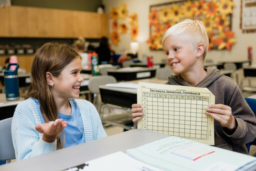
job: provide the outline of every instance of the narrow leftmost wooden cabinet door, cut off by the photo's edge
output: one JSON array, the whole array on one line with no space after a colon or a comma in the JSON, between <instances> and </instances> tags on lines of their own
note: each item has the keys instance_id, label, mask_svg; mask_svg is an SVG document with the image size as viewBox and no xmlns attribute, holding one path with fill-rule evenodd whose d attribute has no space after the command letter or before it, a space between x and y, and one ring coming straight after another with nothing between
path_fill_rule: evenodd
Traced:
<instances>
[{"instance_id":1,"label":"narrow leftmost wooden cabinet door, cut off by the photo's edge","mask_svg":"<svg viewBox=\"0 0 256 171\"><path fill-rule=\"evenodd\" d=\"M9 36L9 6L0 8L0 36Z\"/></svg>"}]
</instances>

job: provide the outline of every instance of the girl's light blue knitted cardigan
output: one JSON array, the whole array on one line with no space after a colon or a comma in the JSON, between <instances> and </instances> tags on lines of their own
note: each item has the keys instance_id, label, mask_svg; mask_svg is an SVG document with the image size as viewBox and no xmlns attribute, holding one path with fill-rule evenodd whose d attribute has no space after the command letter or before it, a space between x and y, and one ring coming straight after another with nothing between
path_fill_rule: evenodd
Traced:
<instances>
[{"instance_id":1,"label":"girl's light blue knitted cardigan","mask_svg":"<svg viewBox=\"0 0 256 171\"><path fill-rule=\"evenodd\" d=\"M105 137L106 133L94 105L84 99L69 100L75 100L78 104L83 122L84 142ZM42 120L36 102L28 98L17 105L11 123L16 160L56 150L56 140L51 143L43 141L42 133L35 130L35 124L42 124Z\"/></svg>"}]
</instances>

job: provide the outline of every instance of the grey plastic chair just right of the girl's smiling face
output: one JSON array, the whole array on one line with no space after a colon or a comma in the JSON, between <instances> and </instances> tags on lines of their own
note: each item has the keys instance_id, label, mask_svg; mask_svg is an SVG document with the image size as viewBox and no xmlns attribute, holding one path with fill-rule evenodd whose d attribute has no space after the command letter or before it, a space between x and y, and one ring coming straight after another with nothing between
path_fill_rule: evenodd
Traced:
<instances>
[{"instance_id":1,"label":"grey plastic chair just right of the girl's smiling face","mask_svg":"<svg viewBox=\"0 0 256 171\"><path fill-rule=\"evenodd\" d=\"M98 94L99 94L98 86L107 84L107 83L115 83L115 82L116 82L115 77L111 75L98 75L98 76L92 76L89 78L88 89L90 93L93 94L92 103L96 106L96 109L98 109Z\"/></svg>"}]
</instances>

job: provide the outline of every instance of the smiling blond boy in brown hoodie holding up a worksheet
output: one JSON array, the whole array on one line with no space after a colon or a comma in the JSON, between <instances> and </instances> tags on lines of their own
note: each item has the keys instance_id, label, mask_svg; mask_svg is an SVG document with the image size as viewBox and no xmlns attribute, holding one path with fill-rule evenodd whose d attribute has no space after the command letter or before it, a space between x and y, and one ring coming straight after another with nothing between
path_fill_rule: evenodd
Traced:
<instances>
[{"instance_id":1,"label":"smiling blond boy in brown hoodie holding up a worksheet","mask_svg":"<svg viewBox=\"0 0 256 171\"><path fill-rule=\"evenodd\" d=\"M215 95L215 104L205 114L214 118L214 146L247 154L244 144L256 136L256 119L237 84L218 69L204 68L208 37L199 20L186 19L171 26L163 35L167 63L175 73L166 84L207 87ZM140 104L132 104L132 121L143 113Z\"/></svg>"}]
</instances>

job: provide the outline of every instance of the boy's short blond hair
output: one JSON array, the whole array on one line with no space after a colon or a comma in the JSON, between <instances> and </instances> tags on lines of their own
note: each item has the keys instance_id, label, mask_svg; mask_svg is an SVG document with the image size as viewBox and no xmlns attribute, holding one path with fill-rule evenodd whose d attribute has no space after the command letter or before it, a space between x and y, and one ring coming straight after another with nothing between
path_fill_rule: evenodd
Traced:
<instances>
[{"instance_id":1,"label":"boy's short blond hair","mask_svg":"<svg viewBox=\"0 0 256 171\"><path fill-rule=\"evenodd\" d=\"M175 25L172 25L167 29L162 37L162 43L169 35L180 35L183 34L187 36L187 39L191 43L192 47L196 48L197 44L203 43L205 46L204 52L202 54L202 59L207 53L209 39L207 32L203 27L203 23L200 20L185 19Z\"/></svg>"}]
</instances>

